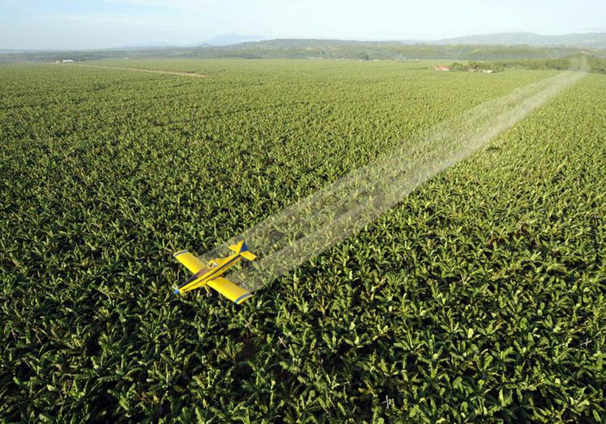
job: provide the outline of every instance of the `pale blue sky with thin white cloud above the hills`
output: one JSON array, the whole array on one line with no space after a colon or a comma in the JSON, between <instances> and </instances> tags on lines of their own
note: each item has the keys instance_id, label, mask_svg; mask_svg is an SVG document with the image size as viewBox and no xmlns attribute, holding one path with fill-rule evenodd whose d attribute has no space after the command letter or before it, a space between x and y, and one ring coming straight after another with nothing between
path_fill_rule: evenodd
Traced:
<instances>
[{"instance_id":1,"label":"pale blue sky with thin white cloud above the hills","mask_svg":"<svg viewBox=\"0 0 606 424\"><path fill-rule=\"evenodd\" d=\"M606 32L604 0L0 0L0 50L262 38L435 40Z\"/></svg>"}]
</instances>

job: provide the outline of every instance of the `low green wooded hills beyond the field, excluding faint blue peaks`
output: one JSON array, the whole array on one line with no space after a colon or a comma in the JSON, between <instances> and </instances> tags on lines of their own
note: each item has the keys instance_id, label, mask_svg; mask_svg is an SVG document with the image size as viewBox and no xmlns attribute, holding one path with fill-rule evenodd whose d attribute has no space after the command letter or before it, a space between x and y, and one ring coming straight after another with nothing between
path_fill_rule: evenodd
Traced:
<instances>
[{"instance_id":1,"label":"low green wooded hills beyond the field, excluding faint blue peaks","mask_svg":"<svg viewBox=\"0 0 606 424\"><path fill-rule=\"evenodd\" d=\"M606 57L604 50L587 50ZM435 45L402 42L339 41L321 39L277 39L246 42L225 47L132 48L57 52L21 52L0 54L0 61L75 61L110 58L247 58L247 59L376 59L415 60L453 59L460 61L512 61L522 59L559 59L579 53L579 48L530 45Z\"/></svg>"}]
</instances>

